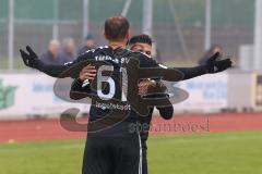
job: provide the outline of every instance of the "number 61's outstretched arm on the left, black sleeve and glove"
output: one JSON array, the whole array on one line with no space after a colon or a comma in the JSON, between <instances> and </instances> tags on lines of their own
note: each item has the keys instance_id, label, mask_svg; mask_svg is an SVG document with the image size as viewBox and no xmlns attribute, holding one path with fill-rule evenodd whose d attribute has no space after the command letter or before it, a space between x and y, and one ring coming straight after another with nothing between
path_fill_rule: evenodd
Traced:
<instances>
[{"instance_id":1,"label":"number 61's outstretched arm on the left, black sleeve and glove","mask_svg":"<svg viewBox=\"0 0 262 174\"><path fill-rule=\"evenodd\" d=\"M73 66L76 62L81 61L84 55L79 57L74 62L64 65L51 65L44 63L38 55L32 50L29 46L26 47L27 52L20 50L23 62L26 66L36 69L49 76L59 77L66 70Z\"/></svg>"}]
</instances>

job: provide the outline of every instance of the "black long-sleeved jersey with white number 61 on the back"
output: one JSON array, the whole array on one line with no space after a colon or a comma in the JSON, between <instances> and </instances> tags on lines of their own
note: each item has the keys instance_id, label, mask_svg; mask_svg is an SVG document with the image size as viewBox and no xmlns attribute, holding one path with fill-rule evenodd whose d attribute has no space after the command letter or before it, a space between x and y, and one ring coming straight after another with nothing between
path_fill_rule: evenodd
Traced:
<instances>
[{"instance_id":1,"label":"black long-sleeved jersey with white number 61 on the back","mask_svg":"<svg viewBox=\"0 0 262 174\"><path fill-rule=\"evenodd\" d=\"M97 79L100 80L100 84L107 84L105 90L96 90L96 96L99 97L99 99L93 101L93 107L91 108L90 114L90 121L97 121L103 119L105 115L108 115L111 110L122 110L121 112L118 113L118 115L127 115L126 120L127 123L130 122L135 122L138 117L135 117L138 114L134 114L134 112L131 111L131 105L129 104L130 101L127 100L127 96L124 96L123 90L128 90L129 94L135 94L135 91L132 91L132 87L130 85L138 85L138 70L143 69L143 67L160 67L160 69L166 69L163 67L162 65L157 64L153 59L148 59L148 57L144 53L141 52L134 52L128 49L123 48L117 48L112 49L111 47L105 46L105 47L99 47L96 49L92 49L86 51L85 53L81 54L75 61L73 62L68 62L64 65L47 65L44 64L43 62L38 62L37 69L50 76L53 77L66 77L70 76L70 74L64 74L70 69L74 69L78 64L82 64L82 62L87 61L87 60L93 60L93 61L104 61L108 64L109 66L104 66L104 71L110 71L110 75L106 75L106 77L103 77L103 73L99 73L99 77ZM126 78L123 77L124 75L124 70L132 66L133 60L136 60L139 62L139 67L133 69L132 71L126 72L126 78L129 80L133 80L132 83L127 83L124 80ZM134 65L135 66L135 65ZM84 66L83 66L84 67ZM78 70L79 72L82 69ZM172 69L174 70L174 69ZM202 74L205 74L205 69L204 66L196 66L196 67L179 67L176 69L178 72L181 72L181 79L188 79L192 78ZM78 77L79 72L75 73ZM103 71L102 71L103 72ZM148 72L148 71L147 71ZM148 73L150 74L150 73ZM103 82L104 80L104 82ZM127 89L128 88L128 89ZM134 88L134 86L133 86ZM108 102L108 100L115 99L118 100L117 104L111 104ZM133 98L134 100L136 99L135 96ZM106 101L106 102L104 102ZM120 101L120 102L119 102ZM143 103L138 103L136 104L143 104ZM141 107L140 105L140 107ZM142 105L143 108L144 105Z\"/></svg>"}]
</instances>

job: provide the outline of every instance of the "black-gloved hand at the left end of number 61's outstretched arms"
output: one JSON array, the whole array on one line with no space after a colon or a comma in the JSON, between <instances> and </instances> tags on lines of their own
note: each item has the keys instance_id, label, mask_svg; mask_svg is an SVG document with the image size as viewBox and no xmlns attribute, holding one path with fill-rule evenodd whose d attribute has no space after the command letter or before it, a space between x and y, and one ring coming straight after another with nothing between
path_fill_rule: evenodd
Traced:
<instances>
[{"instance_id":1,"label":"black-gloved hand at the left end of number 61's outstretched arms","mask_svg":"<svg viewBox=\"0 0 262 174\"><path fill-rule=\"evenodd\" d=\"M39 59L29 46L26 46L26 51L20 49L21 57L26 66L37 69Z\"/></svg>"}]
</instances>

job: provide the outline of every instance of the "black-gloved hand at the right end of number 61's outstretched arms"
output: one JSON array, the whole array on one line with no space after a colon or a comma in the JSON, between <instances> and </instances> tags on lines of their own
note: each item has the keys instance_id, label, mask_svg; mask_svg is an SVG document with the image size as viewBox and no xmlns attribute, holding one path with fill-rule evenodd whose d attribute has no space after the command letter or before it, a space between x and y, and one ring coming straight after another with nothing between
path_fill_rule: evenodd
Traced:
<instances>
[{"instance_id":1,"label":"black-gloved hand at the right end of number 61's outstretched arms","mask_svg":"<svg viewBox=\"0 0 262 174\"><path fill-rule=\"evenodd\" d=\"M231 67L231 60L230 59L217 60L219 55L221 55L219 52L216 52L206 61L205 66L207 73L219 73Z\"/></svg>"}]
</instances>

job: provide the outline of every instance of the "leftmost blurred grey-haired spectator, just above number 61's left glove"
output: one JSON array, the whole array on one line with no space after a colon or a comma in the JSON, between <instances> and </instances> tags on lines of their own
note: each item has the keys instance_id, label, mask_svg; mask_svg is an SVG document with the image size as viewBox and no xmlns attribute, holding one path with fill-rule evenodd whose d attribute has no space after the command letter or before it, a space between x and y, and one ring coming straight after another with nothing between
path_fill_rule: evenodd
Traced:
<instances>
[{"instance_id":1,"label":"leftmost blurred grey-haired spectator, just above number 61's left glove","mask_svg":"<svg viewBox=\"0 0 262 174\"><path fill-rule=\"evenodd\" d=\"M60 50L60 42L58 40L51 40L49 42L48 51L40 55L43 62L47 64L62 64L61 59L58 58L58 52Z\"/></svg>"}]
</instances>

